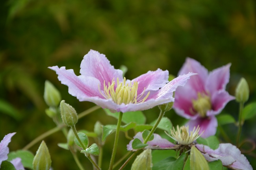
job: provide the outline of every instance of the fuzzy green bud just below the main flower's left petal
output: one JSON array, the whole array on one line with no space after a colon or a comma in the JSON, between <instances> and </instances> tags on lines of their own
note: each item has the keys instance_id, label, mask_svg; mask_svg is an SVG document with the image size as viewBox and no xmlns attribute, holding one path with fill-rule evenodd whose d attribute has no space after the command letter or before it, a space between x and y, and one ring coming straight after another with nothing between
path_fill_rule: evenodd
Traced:
<instances>
[{"instance_id":1,"label":"fuzzy green bud just below the main flower's left petal","mask_svg":"<svg viewBox=\"0 0 256 170\"><path fill-rule=\"evenodd\" d=\"M63 123L67 126L74 126L77 123L78 115L76 110L69 104L65 103L65 101L60 102L60 113Z\"/></svg>"}]
</instances>

